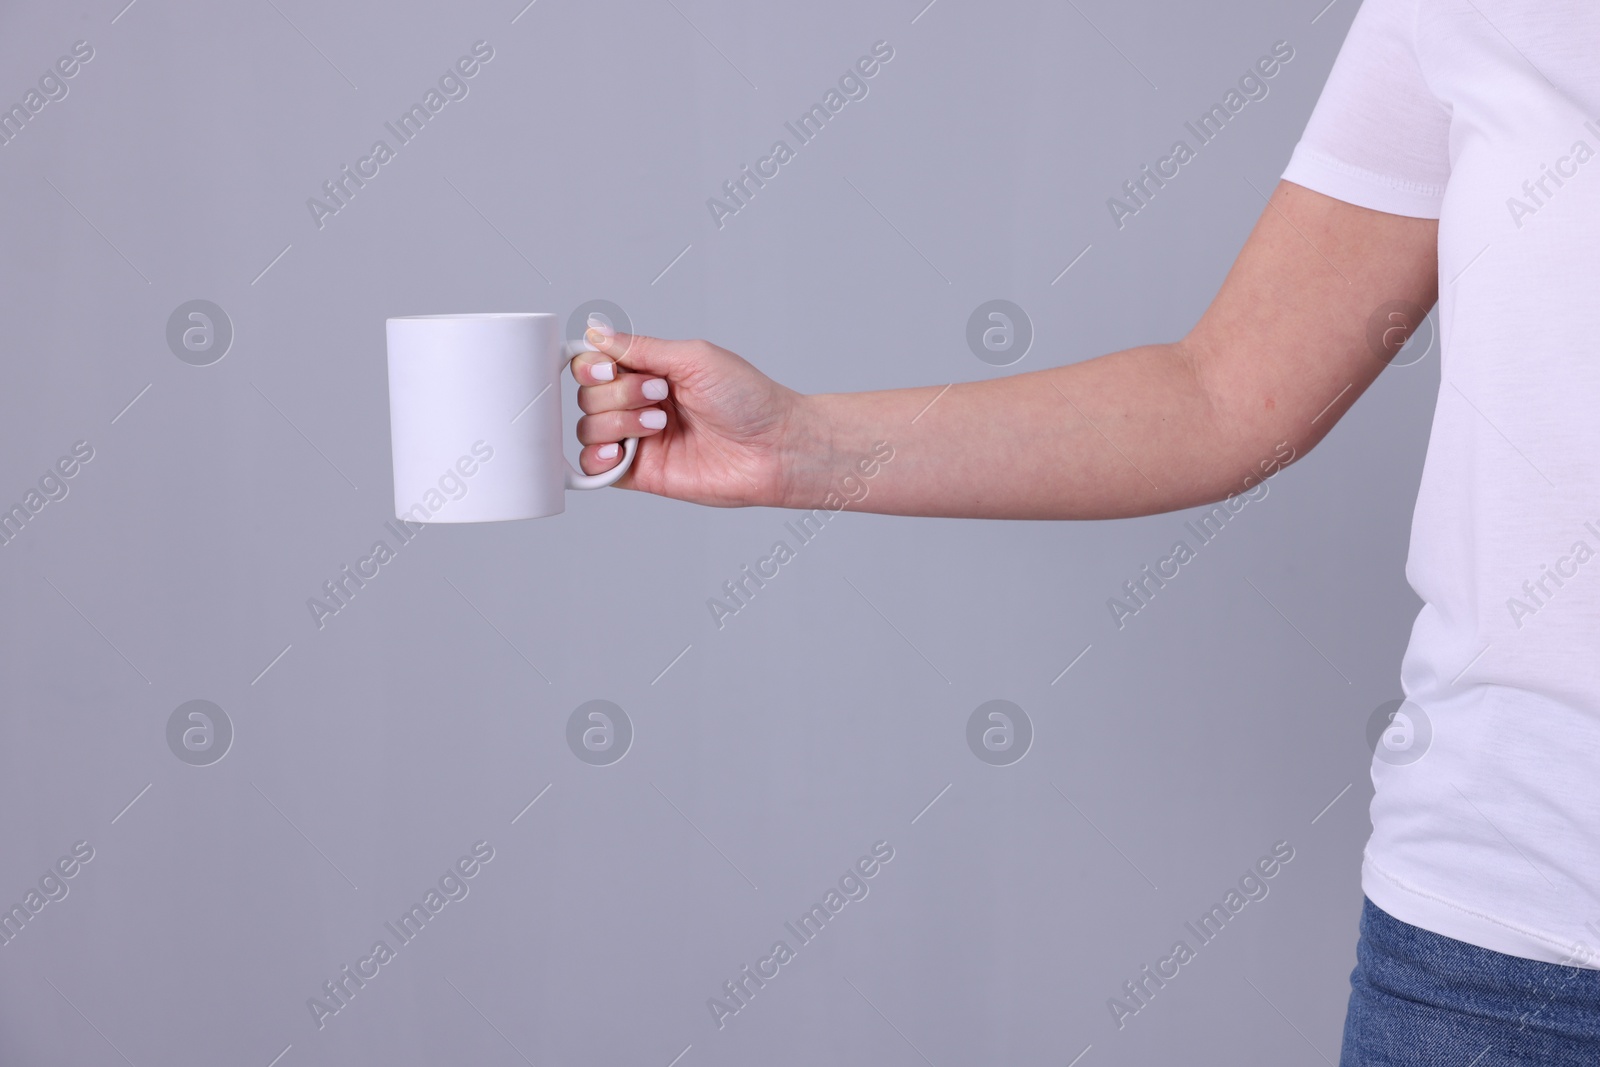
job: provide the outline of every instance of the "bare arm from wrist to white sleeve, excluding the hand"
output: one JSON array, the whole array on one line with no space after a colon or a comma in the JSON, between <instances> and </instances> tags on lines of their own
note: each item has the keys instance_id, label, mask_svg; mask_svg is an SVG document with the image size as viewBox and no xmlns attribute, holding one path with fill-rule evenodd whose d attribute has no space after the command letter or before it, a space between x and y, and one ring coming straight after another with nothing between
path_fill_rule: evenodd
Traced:
<instances>
[{"instance_id":1,"label":"bare arm from wrist to white sleeve, excluding the hand","mask_svg":"<svg viewBox=\"0 0 1600 1067\"><path fill-rule=\"evenodd\" d=\"M1278 182L1182 341L942 395L805 397L778 499L824 507L832 488L837 506L877 442L893 459L851 509L1117 518L1250 491L1309 453L1405 344L1437 296L1437 243L1435 219Z\"/></svg>"}]
</instances>

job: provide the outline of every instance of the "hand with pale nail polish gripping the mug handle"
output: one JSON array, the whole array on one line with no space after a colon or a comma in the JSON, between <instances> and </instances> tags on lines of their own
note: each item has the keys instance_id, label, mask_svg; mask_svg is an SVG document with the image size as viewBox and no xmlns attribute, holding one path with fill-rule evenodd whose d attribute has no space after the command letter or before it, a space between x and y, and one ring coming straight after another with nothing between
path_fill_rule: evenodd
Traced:
<instances>
[{"instance_id":1,"label":"hand with pale nail polish gripping the mug handle","mask_svg":"<svg viewBox=\"0 0 1600 1067\"><path fill-rule=\"evenodd\" d=\"M794 494L794 458L814 438L805 397L707 341L597 328L584 339L598 349L571 363L584 474L614 467L618 442L637 437L622 488L718 507L781 506Z\"/></svg>"}]
</instances>

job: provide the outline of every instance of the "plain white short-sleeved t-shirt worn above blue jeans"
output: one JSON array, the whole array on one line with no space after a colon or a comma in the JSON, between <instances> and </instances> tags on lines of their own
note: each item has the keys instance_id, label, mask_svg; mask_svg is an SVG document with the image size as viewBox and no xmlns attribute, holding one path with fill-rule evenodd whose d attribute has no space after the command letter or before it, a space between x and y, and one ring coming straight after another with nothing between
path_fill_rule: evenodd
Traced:
<instances>
[{"instance_id":1,"label":"plain white short-sleeved t-shirt worn above blue jeans","mask_svg":"<svg viewBox=\"0 0 1600 1067\"><path fill-rule=\"evenodd\" d=\"M1366 0L1283 178L1440 221L1424 605L1362 888L1600 966L1600 3Z\"/></svg>"}]
</instances>

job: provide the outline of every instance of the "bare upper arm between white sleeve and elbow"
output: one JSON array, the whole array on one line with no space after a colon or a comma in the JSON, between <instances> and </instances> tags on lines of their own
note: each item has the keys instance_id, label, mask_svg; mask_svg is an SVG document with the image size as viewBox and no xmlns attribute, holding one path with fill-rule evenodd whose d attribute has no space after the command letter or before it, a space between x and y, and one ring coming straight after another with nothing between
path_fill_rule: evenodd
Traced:
<instances>
[{"instance_id":1,"label":"bare upper arm between white sleeve and elbow","mask_svg":"<svg viewBox=\"0 0 1600 1067\"><path fill-rule=\"evenodd\" d=\"M1253 464L1304 454L1438 296L1438 221L1278 182L1200 322L1179 341L1218 440ZM1266 451L1262 451L1266 450Z\"/></svg>"}]
</instances>

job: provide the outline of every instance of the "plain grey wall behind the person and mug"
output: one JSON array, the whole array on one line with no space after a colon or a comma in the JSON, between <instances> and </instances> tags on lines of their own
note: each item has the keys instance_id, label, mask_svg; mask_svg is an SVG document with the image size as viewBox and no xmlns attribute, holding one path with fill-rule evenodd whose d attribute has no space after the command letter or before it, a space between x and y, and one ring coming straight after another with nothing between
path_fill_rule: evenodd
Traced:
<instances>
[{"instance_id":1,"label":"plain grey wall behind the person and mug","mask_svg":"<svg viewBox=\"0 0 1600 1067\"><path fill-rule=\"evenodd\" d=\"M94 448L0 547L0 897L94 848L0 947L0 1059L1338 1057L1437 354L1120 632L1106 600L1186 515L843 514L718 632L790 515L608 491L432 526L310 621L392 514L386 315L603 298L808 392L1173 339L1355 11L923 2L0 13L6 104L96 51L0 147L0 498ZM306 198L480 38L470 94L318 230ZM877 40L870 94L718 230L706 198ZM1106 198L1275 40L1267 99L1118 232ZM1035 330L1011 368L965 342L995 298ZM211 366L165 342L190 299L234 323ZM234 723L211 766L166 747L190 699ZM634 723L610 766L565 742L590 699ZM990 699L1034 723L1011 766L966 747ZM477 840L470 896L318 1030L307 998ZM878 840L870 896L718 1030L706 1000ZM1107 998L1278 840L1270 896L1118 1030Z\"/></svg>"}]
</instances>

